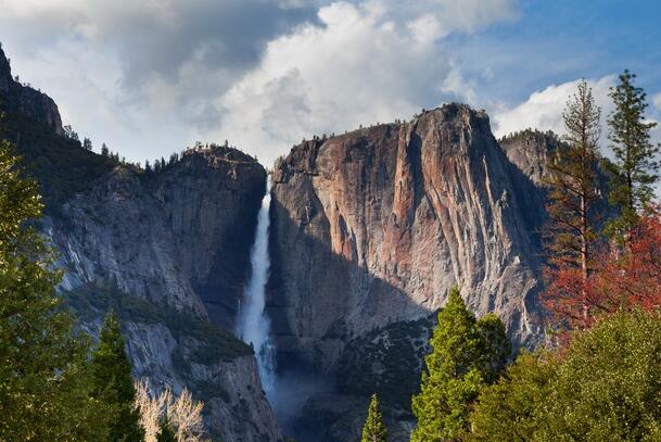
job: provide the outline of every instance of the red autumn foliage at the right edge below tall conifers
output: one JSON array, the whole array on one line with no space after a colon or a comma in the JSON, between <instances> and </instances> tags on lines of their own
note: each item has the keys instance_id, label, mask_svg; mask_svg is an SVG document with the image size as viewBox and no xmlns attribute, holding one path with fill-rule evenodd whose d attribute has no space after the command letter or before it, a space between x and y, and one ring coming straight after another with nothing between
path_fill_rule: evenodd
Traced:
<instances>
[{"instance_id":1,"label":"red autumn foliage at the right edge below tall conifers","mask_svg":"<svg viewBox=\"0 0 661 442\"><path fill-rule=\"evenodd\" d=\"M581 269L558 265L545 269L543 296L556 325L586 328L601 314L661 306L661 218L644 216L623 249L595 255L585 283Z\"/></svg>"}]
</instances>

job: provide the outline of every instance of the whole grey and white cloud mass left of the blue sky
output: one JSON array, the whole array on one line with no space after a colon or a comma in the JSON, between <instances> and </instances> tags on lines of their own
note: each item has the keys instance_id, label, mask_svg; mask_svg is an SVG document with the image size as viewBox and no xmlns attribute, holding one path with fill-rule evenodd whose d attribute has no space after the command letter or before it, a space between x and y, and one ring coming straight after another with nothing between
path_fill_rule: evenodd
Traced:
<instances>
[{"instance_id":1,"label":"whole grey and white cloud mass left of the blue sky","mask_svg":"<svg viewBox=\"0 0 661 442\"><path fill-rule=\"evenodd\" d=\"M475 104L444 48L516 0L0 0L15 74L65 122L135 160L194 140L269 164L302 137ZM14 49L15 48L15 49Z\"/></svg>"}]
</instances>

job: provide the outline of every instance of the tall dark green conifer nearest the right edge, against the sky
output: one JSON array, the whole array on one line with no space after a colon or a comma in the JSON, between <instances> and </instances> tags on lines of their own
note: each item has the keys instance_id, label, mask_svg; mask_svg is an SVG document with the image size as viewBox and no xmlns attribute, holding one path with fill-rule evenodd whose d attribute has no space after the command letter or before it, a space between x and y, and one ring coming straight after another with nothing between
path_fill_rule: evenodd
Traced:
<instances>
[{"instance_id":1,"label":"tall dark green conifer nearest the right edge, against the sky","mask_svg":"<svg viewBox=\"0 0 661 442\"><path fill-rule=\"evenodd\" d=\"M618 205L620 215L609 223L607 231L620 242L627 241L638 223L639 211L653 197L653 185L659 175L659 146L650 142L650 130L656 123L645 121L646 94L634 86L636 75L624 71L620 84L609 93L615 110L609 116L609 139L614 161L609 200Z\"/></svg>"}]
</instances>

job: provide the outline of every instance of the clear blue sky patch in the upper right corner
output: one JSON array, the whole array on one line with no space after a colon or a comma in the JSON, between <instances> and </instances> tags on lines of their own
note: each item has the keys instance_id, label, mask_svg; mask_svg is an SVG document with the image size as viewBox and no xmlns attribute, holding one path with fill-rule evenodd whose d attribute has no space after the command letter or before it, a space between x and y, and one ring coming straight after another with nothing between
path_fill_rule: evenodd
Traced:
<instances>
[{"instance_id":1,"label":"clear blue sky patch in the upper right corner","mask_svg":"<svg viewBox=\"0 0 661 442\"><path fill-rule=\"evenodd\" d=\"M507 52L521 52L498 75L503 99L523 100L551 83L599 78L624 68L637 73L641 85L659 90L661 2L524 1L520 8L516 22L494 25L478 38L456 36L457 43L468 48L486 41L495 51L494 64L507 60Z\"/></svg>"}]
</instances>

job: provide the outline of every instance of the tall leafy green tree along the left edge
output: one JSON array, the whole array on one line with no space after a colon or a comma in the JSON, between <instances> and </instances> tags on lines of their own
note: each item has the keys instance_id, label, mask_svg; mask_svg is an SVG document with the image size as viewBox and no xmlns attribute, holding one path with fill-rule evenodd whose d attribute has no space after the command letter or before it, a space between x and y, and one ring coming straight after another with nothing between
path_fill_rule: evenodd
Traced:
<instances>
[{"instance_id":1,"label":"tall leafy green tree along the left edge","mask_svg":"<svg viewBox=\"0 0 661 442\"><path fill-rule=\"evenodd\" d=\"M0 440L103 438L84 370L87 341L55 294L52 251L28 227L41 215L37 185L0 142Z\"/></svg>"}]
</instances>

